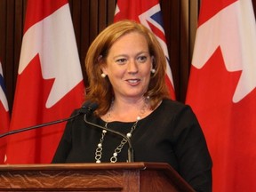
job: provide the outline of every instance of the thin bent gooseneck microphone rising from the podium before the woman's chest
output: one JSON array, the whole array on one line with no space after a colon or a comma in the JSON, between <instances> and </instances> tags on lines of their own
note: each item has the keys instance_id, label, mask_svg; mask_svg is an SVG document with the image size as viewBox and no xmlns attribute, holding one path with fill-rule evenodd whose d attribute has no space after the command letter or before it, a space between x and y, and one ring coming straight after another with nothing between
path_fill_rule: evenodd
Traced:
<instances>
[{"instance_id":1,"label":"thin bent gooseneck microphone rising from the podium before the woman's chest","mask_svg":"<svg viewBox=\"0 0 256 192\"><path fill-rule=\"evenodd\" d=\"M90 109L89 109L90 108ZM90 110L91 112L93 112L96 108L98 108L98 104L97 103L92 103L89 107L88 107L88 110ZM127 143L129 145L128 147L128 163L132 163L134 162L134 156L133 156L133 148L132 148L132 141L126 136L124 135L122 132L116 132L115 130L111 130L111 129L108 129L106 127L103 127L103 126L100 126L99 124L93 124L92 122L89 122L87 120L87 115L89 113L85 113L84 114L84 122L86 124L91 124L92 126L94 127L97 127L97 128L100 128L101 130L106 130L107 132L111 132L113 134L116 134L122 138L124 138L125 140L127 140Z\"/></svg>"}]
</instances>

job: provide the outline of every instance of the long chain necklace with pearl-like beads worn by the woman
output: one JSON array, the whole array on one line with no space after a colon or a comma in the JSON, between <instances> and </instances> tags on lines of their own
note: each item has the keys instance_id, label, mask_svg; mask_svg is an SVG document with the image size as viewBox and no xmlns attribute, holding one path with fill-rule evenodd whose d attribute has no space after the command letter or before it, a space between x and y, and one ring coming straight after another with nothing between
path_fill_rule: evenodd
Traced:
<instances>
[{"instance_id":1,"label":"long chain necklace with pearl-like beads worn by the woman","mask_svg":"<svg viewBox=\"0 0 256 192\"><path fill-rule=\"evenodd\" d=\"M109 109L108 116L107 116L108 118L111 116L112 106L113 106L113 103L111 105L111 108ZM144 113L146 112L147 106L148 106L148 98L147 98L147 100L145 99L145 103L144 103L143 107L140 110L140 115L137 116L136 122L134 124L132 124L132 128L131 128L130 132L128 132L126 134L127 138L129 138L129 139L132 138L132 132L136 129L137 124L141 119L141 116L143 116ZM105 124L105 128L108 129L108 119L107 119L107 122ZM97 146L96 151L95 151L95 160L96 160L97 164L101 163L100 159L101 159L101 156L102 156L103 141L104 141L104 137L105 137L106 133L107 133L107 130L102 130L100 142L98 143L98 146ZM111 158L110 158L111 163L116 163L117 156L122 151L122 149L123 149L123 147L126 143L127 143L126 139L121 140L120 144L114 150L113 156L111 156Z\"/></svg>"}]
</instances>

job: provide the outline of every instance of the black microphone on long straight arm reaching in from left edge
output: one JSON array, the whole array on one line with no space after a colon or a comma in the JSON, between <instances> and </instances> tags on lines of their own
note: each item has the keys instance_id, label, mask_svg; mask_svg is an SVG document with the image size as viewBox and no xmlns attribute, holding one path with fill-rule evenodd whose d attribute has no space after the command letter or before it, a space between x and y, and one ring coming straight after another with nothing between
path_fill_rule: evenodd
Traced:
<instances>
[{"instance_id":1,"label":"black microphone on long straight arm reaching in from left edge","mask_svg":"<svg viewBox=\"0 0 256 192\"><path fill-rule=\"evenodd\" d=\"M33 129L41 128L41 127L44 127L44 126L49 126L49 125L52 125L52 124L60 124L60 123L69 121L71 119L74 119L74 118L76 118L76 116L79 116L81 114L85 114L86 115L86 114L92 113L92 107L93 106L91 106L91 105L92 105L92 103L87 101L87 102L84 103L82 108L80 108L78 110L78 113L75 116L70 116L68 118L64 118L64 119L60 119L60 120L57 120L57 121L48 122L48 123L45 123L45 124L37 124L37 125L34 125L34 126L22 128L22 129L19 129L19 130L13 130L11 132L5 132L3 134L0 134L0 138L3 138L5 136L7 136L7 135L15 134L15 133L18 133L18 132L27 132L27 131L30 131L30 130L33 130ZM95 107L93 107L93 108L95 108ZM93 110L95 110L95 109L93 109Z\"/></svg>"}]
</instances>

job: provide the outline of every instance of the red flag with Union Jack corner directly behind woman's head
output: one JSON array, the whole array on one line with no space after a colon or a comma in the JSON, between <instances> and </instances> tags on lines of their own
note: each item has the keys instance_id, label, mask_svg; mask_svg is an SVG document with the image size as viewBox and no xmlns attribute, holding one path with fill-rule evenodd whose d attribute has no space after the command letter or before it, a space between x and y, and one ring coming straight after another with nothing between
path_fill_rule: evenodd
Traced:
<instances>
[{"instance_id":1,"label":"red flag with Union Jack corner directly behind woman's head","mask_svg":"<svg viewBox=\"0 0 256 192\"><path fill-rule=\"evenodd\" d=\"M166 84L172 100L175 100L174 84L168 49L164 35L164 24L159 0L117 0L114 22L118 20L136 20L149 28L161 44L166 58Z\"/></svg>"}]
</instances>

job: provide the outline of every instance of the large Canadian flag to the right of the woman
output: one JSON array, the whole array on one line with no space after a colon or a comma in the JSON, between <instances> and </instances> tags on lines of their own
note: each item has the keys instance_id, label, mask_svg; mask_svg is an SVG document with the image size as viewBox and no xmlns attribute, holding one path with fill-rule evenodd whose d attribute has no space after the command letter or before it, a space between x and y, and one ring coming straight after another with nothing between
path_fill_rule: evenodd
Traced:
<instances>
[{"instance_id":1,"label":"large Canadian flag to the right of the woman","mask_svg":"<svg viewBox=\"0 0 256 192\"><path fill-rule=\"evenodd\" d=\"M213 191L256 188L256 26L251 0L203 0L187 103L213 162Z\"/></svg>"}]
</instances>

